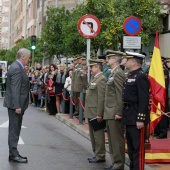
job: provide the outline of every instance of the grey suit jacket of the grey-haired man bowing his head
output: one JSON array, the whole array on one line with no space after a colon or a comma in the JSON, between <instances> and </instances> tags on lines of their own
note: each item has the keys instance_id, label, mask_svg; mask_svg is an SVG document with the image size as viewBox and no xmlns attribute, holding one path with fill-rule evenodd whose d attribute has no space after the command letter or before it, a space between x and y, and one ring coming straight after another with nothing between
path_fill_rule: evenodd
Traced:
<instances>
[{"instance_id":1,"label":"grey suit jacket of the grey-haired man bowing his head","mask_svg":"<svg viewBox=\"0 0 170 170\"><path fill-rule=\"evenodd\" d=\"M29 103L29 78L22 66L15 61L7 73L7 89L4 107L21 108L25 111Z\"/></svg>"}]
</instances>

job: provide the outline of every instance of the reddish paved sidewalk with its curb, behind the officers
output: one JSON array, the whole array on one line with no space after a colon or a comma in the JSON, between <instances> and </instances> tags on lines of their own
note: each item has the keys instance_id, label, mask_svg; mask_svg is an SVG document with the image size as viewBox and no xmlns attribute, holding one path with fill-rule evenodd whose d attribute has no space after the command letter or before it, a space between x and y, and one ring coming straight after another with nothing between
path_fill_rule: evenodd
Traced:
<instances>
[{"instance_id":1,"label":"reddish paved sidewalk with its curb, behind the officers","mask_svg":"<svg viewBox=\"0 0 170 170\"><path fill-rule=\"evenodd\" d=\"M68 114L56 114L56 119L60 120L70 128L74 129L77 131L79 134L84 136L85 138L90 140L89 136L89 131L88 131L88 124L83 124L80 125L78 119L73 118L70 119ZM106 150L107 152L109 151L108 144L107 144L107 139L106 139ZM129 158L128 155L125 155L126 158L126 164L129 165ZM145 170L170 170L170 164L146 164L145 165Z\"/></svg>"}]
</instances>

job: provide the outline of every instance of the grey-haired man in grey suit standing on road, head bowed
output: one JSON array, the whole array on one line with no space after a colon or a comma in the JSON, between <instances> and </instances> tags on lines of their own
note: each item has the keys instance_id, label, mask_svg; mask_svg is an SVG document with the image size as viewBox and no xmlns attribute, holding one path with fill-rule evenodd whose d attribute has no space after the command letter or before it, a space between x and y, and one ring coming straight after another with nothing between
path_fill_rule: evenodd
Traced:
<instances>
[{"instance_id":1,"label":"grey-haired man in grey suit standing on road, head bowed","mask_svg":"<svg viewBox=\"0 0 170 170\"><path fill-rule=\"evenodd\" d=\"M27 157L22 157L18 150L18 140L21 131L22 118L29 103L29 78L24 70L30 60L30 51L22 48L17 52L16 61L11 64L7 73L7 89L4 107L8 108L9 116L9 161L27 163Z\"/></svg>"}]
</instances>

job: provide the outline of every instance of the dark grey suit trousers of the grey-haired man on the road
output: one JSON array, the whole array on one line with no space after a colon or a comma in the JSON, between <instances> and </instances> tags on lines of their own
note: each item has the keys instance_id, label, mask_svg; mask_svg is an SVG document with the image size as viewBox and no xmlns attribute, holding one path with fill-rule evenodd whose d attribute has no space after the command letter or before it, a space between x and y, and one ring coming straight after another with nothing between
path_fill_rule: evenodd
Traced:
<instances>
[{"instance_id":1,"label":"dark grey suit trousers of the grey-haired man on the road","mask_svg":"<svg viewBox=\"0 0 170 170\"><path fill-rule=\"evenodd\" d=\"M23 114L15 113L14 109L8 109L9 116L9 129L8 129L8 146L9 154L13 156L19 156L17 145L19 141L19 135L21 132Z\"/></svg>"}]
</instances>

